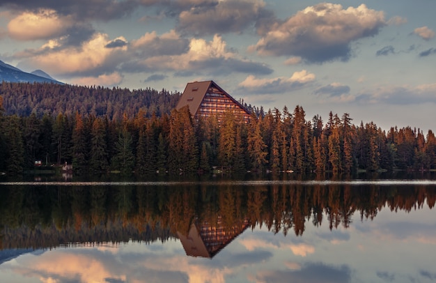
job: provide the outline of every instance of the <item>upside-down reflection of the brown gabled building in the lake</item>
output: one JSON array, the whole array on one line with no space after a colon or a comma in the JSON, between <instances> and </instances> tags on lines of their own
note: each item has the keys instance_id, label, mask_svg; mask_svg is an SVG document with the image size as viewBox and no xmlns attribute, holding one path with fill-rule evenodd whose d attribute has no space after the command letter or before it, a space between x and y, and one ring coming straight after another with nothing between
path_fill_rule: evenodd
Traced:
<instances>
[{"instance_id":1,"label":"upside-down reflection of the brown gabled building in the lake","mask_svg":"<svg viewBox=\"0 0 436 283\"><path fill-rule=\"evenodd\" d=\"M188 256L212 258L248 227L248 220L233 224L231 227L224 227L220 217L216 225L194 222L187 236L179 231L177 235Z\"/></svg>"}]
</instances>

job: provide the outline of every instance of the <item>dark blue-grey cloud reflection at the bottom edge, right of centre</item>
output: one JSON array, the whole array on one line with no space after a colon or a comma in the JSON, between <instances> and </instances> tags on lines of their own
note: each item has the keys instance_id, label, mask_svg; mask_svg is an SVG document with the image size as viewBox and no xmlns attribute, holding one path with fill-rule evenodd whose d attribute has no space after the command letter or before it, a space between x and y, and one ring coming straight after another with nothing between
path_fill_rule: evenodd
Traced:
<instances>
[{"instance_id":1,"label":"dark blue-grey cloud reflection at the bottom edge, right of centre","mask_svg":"<svg viewBox=\"0 0 436 283\"><path fill-rule=\"evenodd\" d=\"M256 275L256 282L350 282L348 266L326 266L323 263L306 263L300 270L264 270Z\"/></svg>"}]
</instances>

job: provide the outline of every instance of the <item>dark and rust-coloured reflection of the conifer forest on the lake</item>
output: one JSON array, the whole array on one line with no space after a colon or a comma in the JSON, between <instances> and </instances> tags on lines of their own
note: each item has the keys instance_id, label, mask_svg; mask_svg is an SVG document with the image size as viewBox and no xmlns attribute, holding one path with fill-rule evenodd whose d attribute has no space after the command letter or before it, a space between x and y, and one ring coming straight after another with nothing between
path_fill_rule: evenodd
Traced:
<instances>
[{"instance_id":1,"label":"dark and rust-coloured reflection of the conifer forest on the lake","mask_svg":"<svg viewBox=\"0 0 436 283\"><path fill-rule=\"evenodd\" d=\"M355 213L373 219L382 208L411 211L435 201L435 185L3 186L0 248L165 241L187 235L194 222L247 221L302 235L309 222L348 227Z\"/></svg>"}]
</instances>

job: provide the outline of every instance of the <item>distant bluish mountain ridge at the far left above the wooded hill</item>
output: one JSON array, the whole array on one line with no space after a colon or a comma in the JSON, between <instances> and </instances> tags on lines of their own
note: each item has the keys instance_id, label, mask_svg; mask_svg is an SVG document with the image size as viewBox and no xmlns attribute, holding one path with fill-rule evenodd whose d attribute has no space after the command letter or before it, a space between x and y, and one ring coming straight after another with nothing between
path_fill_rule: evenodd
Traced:
<instances>
[{"instance_id":1,"label":"distant bluish mountain ridge at the far left above the wooded hill","mask_svg":"<svg viewBox=\"0 0 436 283\"><path fill-rule=\"evenodd\" d=\"M63 82L56 81L42 70L35 70L31 73L24 72L3 61L0 61L0 82L52 82L54 84L63 84Z\"/></svg>"}]
</instances>

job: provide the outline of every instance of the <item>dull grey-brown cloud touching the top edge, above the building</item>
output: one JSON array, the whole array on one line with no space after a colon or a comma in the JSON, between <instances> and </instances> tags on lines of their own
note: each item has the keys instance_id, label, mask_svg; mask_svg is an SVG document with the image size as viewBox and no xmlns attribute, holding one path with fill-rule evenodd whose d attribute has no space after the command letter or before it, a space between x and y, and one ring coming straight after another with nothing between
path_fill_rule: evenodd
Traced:
<instances>
[{"instance_id":1,"label":"dull grey-brown cloud touching the top edge, above the building","mask_svg":"<svg viewBox=\"0 0 436 283\"><path fill-rule=\"evenodd\" d=\"M272 15L260 0L217 1L208 6L190 6L178 17L177 30L196 36L236 32Z\"/></svg>"}]
</instances>

